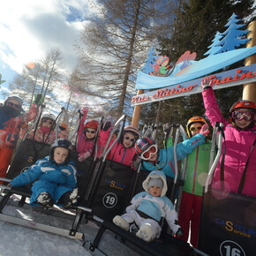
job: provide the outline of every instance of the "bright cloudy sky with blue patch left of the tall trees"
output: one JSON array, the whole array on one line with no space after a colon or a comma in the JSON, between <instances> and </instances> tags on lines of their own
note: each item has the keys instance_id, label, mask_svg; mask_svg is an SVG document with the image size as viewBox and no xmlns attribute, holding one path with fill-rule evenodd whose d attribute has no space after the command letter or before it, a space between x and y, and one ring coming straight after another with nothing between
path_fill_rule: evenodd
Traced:
<instances>
[{"instance_id":1,"label":"bright cloudy sky with blue patch left of the tall trees","mask_svg":"<svg viewBox=\"0 0 256 256\"><path fill-rule=\"evenodd\" d=\"M25 64L46 56L58 47L68 72L77 64L73 49L79 32L94 11L94 0L8 0L1 4L0 73L9 83Z\"/></svg>"}]
</instances>

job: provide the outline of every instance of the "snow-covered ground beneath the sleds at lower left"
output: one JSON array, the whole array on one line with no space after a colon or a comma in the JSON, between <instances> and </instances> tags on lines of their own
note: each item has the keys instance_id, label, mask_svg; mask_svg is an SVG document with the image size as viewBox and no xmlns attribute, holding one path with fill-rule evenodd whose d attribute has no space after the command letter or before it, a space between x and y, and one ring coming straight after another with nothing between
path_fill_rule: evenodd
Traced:
<instances>
[{"instance_id":1,"label":"snow-covered ground beneath the sleds at lower left","mask_svg":"<svg viewBox=\"0 0 256 256\"><path fill-rule=\"evenodd\" d=\"M12 200L17 199L13 196ZM72 220L45 215L33 208L34 207L15 207L13 204L8 204L4 207L3 213L34 220L35 222L50 223L60 228L71 229ZM85 239L90 241L94 240L97 230L99 230L99 228L96 223L90 221L87 224L81 224L79 228L79 232L84 233ZM0 237L1 256L84 256L93 254L86 249L87 245L86 248L82 246L83 243L81 241L7 222L0 222ZM100 243L100 249L111 256L139 255L137 252L133 252L130 248L118 242L117 239L115 239L115 235L109 231L105 231ZM102 253L95 250L94 254L100 255Z\"/></svg>"}]
</instances>

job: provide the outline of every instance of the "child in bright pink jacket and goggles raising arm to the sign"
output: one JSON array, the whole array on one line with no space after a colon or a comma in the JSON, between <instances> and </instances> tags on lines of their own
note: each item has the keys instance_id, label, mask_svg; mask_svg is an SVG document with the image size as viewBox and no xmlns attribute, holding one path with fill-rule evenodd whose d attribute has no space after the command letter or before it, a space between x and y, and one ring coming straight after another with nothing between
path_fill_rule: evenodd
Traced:
<instances>
[{"instance_id":1,"label":"child in bright pink jacket and goggles raising arm to the sign","mask_svg":"<svg viewBox=\"0 0 256 256\"><path fill-rule=\"evenodd\" d=\"M216 102L213 86L214 80L202 80L206 115L212 125L215 122L224 124L222 156L215 169L212 187L221 188L224 185L228 192L242 192L256 197L255 102L235 102L230 108L229 121L225 120Z\"/></svg>"}]
</instances>

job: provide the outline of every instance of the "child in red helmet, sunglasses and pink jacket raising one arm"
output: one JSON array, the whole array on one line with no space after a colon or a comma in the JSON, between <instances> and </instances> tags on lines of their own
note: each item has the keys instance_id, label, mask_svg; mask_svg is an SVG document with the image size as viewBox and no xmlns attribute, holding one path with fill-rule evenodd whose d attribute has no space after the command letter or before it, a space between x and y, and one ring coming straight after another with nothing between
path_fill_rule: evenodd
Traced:
<instances>
[{"instance_id":1,"label":"child in red helmet, sunglasses and pink jacket raising one arm","mask_svg":"<svg viewBox=\"0 0 256 256\"><path fill-rule=\"evenodd\" d=\"M85 161L91 154L93 153L94 143L95 143L95 134L99 126L99 122L96 120L89 120L86 122L88 108L83 107L80 111L83 114L79 125L79 137L78 137L78 144L77 144L77 152L79 153L79 162ZM99 139L100 140L100 139ZM101 144L98 140L98 153L97 156L99 157L101 152Z\"/></svg>"}]
</instances>

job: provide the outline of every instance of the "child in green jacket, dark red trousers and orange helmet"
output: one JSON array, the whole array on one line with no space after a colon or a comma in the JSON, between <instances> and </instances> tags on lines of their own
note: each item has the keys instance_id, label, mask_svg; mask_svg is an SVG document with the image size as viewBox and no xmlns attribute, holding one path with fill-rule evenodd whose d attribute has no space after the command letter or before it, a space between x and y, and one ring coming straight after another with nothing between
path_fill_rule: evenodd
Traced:
<instances>
[{"instance_id":1,"label":"child in green jacket, dark red trousers and orange helmet","mask_svg":"<svg viewBox=\"0 0 256 256\"><path fill-rule=\"evenodd\" d=\"M204 124L207 124L207 122L203 117L190 118L186 124L188 137L192 138L198 134ZM192 153L187 156L178 220L181 228L184 230L184 234L180 238L187 242L191 227L190 243L195 248L198 245L203 186L207 179L211 145L211 141L206 139L205 143L195 147Z\"/></svg>"}]
</instances>

